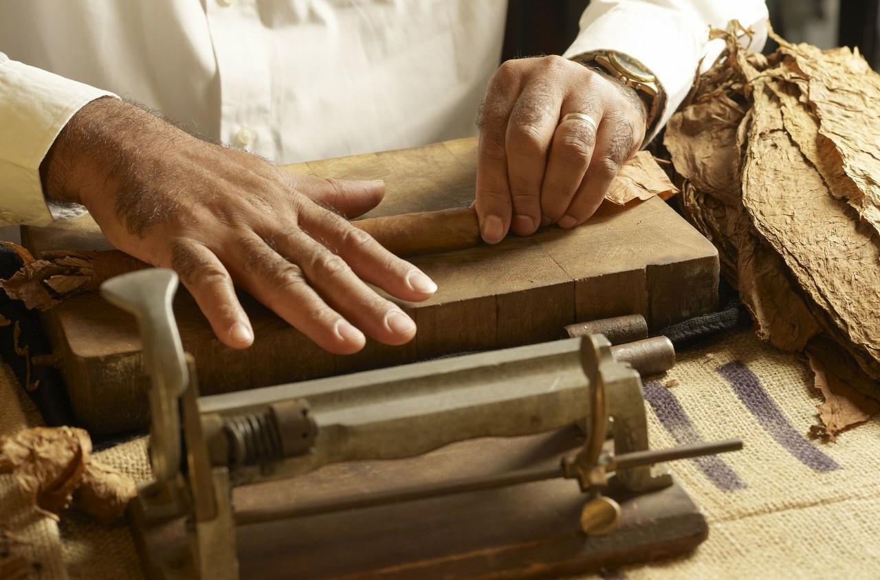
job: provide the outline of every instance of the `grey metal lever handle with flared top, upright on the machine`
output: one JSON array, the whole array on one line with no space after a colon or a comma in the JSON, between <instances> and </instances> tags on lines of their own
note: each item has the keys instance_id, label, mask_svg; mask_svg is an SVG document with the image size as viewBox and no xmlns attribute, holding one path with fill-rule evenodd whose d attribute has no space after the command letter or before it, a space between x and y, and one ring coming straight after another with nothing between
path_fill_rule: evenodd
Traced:
<instances>
[{"instance_id":1,"label":"grey metal lever handle with flared top, upright on the machine","mask_svg":"<svg viewBox=\"0 0 880 580\"><path fill-rule=\"evenodd\" d=\"M135 315L143 340L143 364L150 375L150 462L158 481L180 472L180 395L189 373L172 298L178 278L167 268L118 275L101 284L110 304Z\"/></svg>"}]
</instances>

